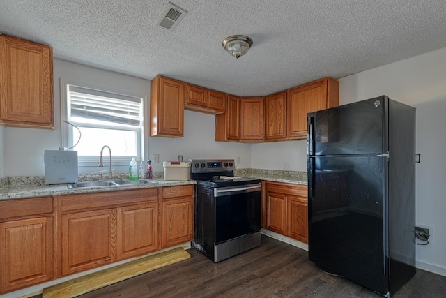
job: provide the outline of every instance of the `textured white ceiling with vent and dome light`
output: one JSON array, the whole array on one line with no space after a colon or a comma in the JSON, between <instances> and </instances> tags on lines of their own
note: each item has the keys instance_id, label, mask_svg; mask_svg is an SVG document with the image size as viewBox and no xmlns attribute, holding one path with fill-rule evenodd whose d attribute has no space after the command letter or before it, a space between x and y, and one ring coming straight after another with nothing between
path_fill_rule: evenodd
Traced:
<instances>
[{"instance_id":1,"label":"textured white ceiling with vent and dome light","mask_svg":"<svg viewBox=\"0 0 446 298\"><path fill-rule=\"evenodd\" d=\"M0 32L54 57L149 80L162 74L238 96L272 94L446 47L445 0L0 0ZM235 59L222 40L254 45Z\"/></svg>"}]
</instances>

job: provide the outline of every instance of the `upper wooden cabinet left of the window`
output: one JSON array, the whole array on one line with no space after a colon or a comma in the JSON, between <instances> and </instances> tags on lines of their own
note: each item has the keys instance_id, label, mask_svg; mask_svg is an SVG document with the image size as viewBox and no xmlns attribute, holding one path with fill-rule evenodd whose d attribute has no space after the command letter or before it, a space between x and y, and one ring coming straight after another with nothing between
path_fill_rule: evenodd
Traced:
<instances>
[{"instance_id":1,"label":"upper wooden cabinet left of the window","mask_svg":"<svg viewBox=\"0 0 446 298\"><path fill-rule=\"evenodd\" d=\"M0 35L0 124L54 128L52 47Z\"/></svg>"}]
</instances>

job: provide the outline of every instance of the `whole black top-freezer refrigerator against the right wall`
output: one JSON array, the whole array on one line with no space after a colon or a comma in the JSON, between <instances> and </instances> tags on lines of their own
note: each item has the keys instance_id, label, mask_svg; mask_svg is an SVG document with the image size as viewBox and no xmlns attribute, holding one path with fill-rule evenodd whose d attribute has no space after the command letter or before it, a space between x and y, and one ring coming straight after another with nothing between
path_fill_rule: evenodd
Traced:
<instances>
[{"instance_id":1,"label":"whole black top-freezer refrigerator against the right wall","mask_svg":"<svg viewBox=\"0 0 446 298\"><path fill-rule=\"evenodd\" d=\"M390 297L415 275L415 108L380 96L307 119L309 260Z\"/></svg>"}]
</instances>

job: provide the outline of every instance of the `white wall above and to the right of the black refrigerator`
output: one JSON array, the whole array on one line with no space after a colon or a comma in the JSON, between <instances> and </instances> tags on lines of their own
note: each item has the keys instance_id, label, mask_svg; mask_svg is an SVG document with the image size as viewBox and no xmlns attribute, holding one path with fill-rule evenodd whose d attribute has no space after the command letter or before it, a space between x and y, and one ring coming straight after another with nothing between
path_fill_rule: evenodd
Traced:
<instances>
[{"instance_id":1,"label":"white wall above and to the right of the black refrigerator","mask_svg":"<svg viewBox=\"0 0 446 298\"><path fill-rule=\"evenodd\" d=\"M431 243L417 246L417 267L446 276L446 48L339 79L339 104L387 95L417 108L417 225Z\"/></svg>"}]
</instances>

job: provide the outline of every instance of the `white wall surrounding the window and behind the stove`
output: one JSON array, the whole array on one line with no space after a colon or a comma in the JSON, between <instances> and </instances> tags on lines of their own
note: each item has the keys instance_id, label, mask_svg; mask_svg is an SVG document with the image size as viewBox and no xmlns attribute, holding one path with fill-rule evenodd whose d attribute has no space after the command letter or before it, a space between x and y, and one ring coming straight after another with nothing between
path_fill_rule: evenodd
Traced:
<instances>
[{"instance_id":1,"label":"white wall surrounding the window and behind the stove","mask_svg":"<svg viewBox=\"0 0 446 298\"><path fill-rule=\"evenodd\" d=\"M37 128L0 128L0 177L3 176L43 176L45 169L43 152L57 149L61 144L61 102L60 78L82 80L113 89L132 91L149 98L150 81L108 70L75 64L54 59L54 130ZM148 106L148 105L147 105ZM234 158L240 156L237 168L250 167L251 145L215 142L215 117L199 112L185 111L185 137L173 139L166 137L148 138L148 156L160 154L160 163L153 164L154 172L162 172L162 161L183 161L189 158ZM2 136L3 133L3 136ZM4 147L4 148L3 148ZM147 148L147 146L146 146ZM99 156L98 149L98 156ZM2 158L4 152L4 159ZM147 149L145 149L147 156ZM125 172L126 167L114 167ZM102 170L100 167L79 169L79 174Z\"/></svg>"}]
</instances>

